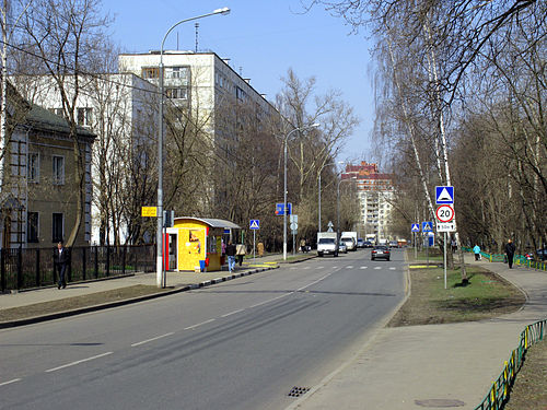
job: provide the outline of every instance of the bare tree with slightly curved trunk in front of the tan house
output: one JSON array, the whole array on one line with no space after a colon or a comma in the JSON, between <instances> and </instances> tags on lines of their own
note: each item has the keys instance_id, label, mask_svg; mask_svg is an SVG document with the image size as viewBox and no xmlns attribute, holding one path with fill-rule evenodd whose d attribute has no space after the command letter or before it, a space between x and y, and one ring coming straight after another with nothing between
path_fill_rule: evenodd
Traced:
<instances>
[{"instance_id":1,"label":"bare tree with slightly curved trunk in front of the tan house","mask_svg":"<svg viewBox=\"0 0 547 410\"><path fill-rule=\"evenodd\" d=\"M79 187L77 219L67 244L71 246L84 221L85 159L77 136L77 101L80 77L93 60L95 46L104 37L108 19L100 14L98 0L35 0L22 19L25 48L39 57L43 72L49 73L61 95L65 117L70 127L73 157L77 164L74 181ZM67 81L71 78L71 81Z\"/></svg>"}]
</instances>

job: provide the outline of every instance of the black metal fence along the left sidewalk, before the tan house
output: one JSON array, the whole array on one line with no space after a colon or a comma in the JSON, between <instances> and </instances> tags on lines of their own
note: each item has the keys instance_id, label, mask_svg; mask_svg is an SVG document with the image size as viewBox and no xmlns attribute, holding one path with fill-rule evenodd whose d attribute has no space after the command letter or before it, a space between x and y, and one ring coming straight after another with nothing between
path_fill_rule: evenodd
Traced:
<instances>
[{"instance_id":1,"label":"black metal fence along the left sidewalk, before the tan house","mask_svg":"<svg viewBox=\"0 0 547 410\"><path fill-rule=\"evenodd\" d=\"M155 270L155 245L86 246L70 248L67 282L104 279ZM0 249L2 292L57 283L54 248Z\"/></svg>"}]
</instances>

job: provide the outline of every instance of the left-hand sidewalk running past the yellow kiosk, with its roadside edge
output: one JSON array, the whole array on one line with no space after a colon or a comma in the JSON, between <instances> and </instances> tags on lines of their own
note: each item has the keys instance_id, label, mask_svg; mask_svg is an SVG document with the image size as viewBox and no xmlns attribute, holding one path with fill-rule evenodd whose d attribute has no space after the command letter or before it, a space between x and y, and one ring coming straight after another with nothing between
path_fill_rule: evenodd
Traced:
<instances>
[{"instance_id":1,"label":"left-hand sidewalk running past the yellow kiosk, with its roadside edge","mask_svg":"<svg viewBox=\"0 0 547 410\"><path fill-rule=\"evenodd\" d=\"M312 255L312 254L310 254ZM287 260L287 262L294 262L302 260L303 256L300 255L301 259ZM304 258L306 259L306 258ZM213 283L224 282L226 280L232 280L242 276L253 274L261 272L265 270L270 270L279 267L279 263L283 263L282 255L272 254L264 257L257 257L253 259L252 257L245 259L242 267L236 266L235 271L230 273L228 270L216 271L216 272L167 272L166 273L166 288L168 291L161 294L152 294L147 296L136 297L131 302L139 302L147 298L160 297L162 295L172 294L176 292L184 292L190 289L197 289L202 286L208 286ZM58 290L57 286L43 288L38 290L22 291L11 294L0 294L0 308L8 309L13 307L24 307L33 305L36 303L60 301L74 296L83 296L92 293L105 292L117 290L121 288L129 288L135 285L156 285L156 274L152 273L136 273L133 276L128 276L124 278L113 278L101 281L90 281L90 282L78 282L68 284L66 289ZM7 327L13 327L18 325L26 325L30 323L43 321L46 319L54 319L62 316L73 315L77 313L91 312L94 309L107 308L110 306L117 306L123 303L128 303L128 301L108 303L105 305L97 305L92 307L86 307L84 309L77 309L70 312L63 312L59 314L46 315L44 317L37 317L33 319L25 319L21 323L0 323L0 329Z\"/></svg>"}]
</instances>

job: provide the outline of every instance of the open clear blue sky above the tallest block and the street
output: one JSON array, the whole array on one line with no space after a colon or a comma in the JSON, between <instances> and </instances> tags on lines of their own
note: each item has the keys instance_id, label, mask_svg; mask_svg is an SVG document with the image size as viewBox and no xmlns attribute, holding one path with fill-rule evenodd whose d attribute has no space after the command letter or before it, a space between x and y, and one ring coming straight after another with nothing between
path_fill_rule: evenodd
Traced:
<instances>
[{"instance_id":1,"label":"open clear blue sky above the tallest block and the street","mask_svg":"<svg viewBox=\"0 0 547 410\"><path fill-rule=\"evenodd\" d=\"M115 21L114 42L126 52L159 49L177 21L229 7L229 15L198 20L199 49L230 58L232 68L270 101L281 90L281 78L292 68L300 79L315 77L317 93L339 90L361 119L339 161L371 161L373 91L370 43L350 34L344 21L321 8L302 14L300 0L104 0ZM165 49L195 49L195 22L178 26Z\"/></svg>"}]
</instances>

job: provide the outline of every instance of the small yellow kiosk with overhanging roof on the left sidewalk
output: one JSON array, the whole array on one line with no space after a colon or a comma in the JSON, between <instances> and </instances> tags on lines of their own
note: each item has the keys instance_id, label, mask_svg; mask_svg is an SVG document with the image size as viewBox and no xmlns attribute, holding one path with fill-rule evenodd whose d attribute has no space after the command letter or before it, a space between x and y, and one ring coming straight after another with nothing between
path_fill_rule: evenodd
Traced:
<instances>
[{"instance_id":1,"label":"small yellow kiosk with overhanging roof on the left sidewalk","mask_svg":"<svg viewBox=\"0 0 547 410\"><path fill-rule=\"evenodd\" d=\"M221 270L222 235L241 230L233 222L211 218L175 218L167 229L167 270Z\"/></svg>"}]
</instances>

